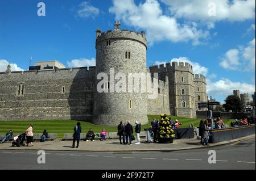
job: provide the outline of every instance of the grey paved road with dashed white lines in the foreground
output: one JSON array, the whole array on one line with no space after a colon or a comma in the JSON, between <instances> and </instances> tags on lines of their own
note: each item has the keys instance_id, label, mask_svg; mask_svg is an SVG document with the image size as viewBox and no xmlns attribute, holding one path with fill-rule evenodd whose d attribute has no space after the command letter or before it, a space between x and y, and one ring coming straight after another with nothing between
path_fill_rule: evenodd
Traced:
<instances>
[{"instance_id":1,"label":"grey paved road with dashed white lines in the foreground","mask_svg":"<svg viewBox=\"0 0 256 181\"><path fill-rule=\"evenodd\" d=\"M216 151L216 164L208 151ZM47 151L38 164L36 151L0 151L0 169L254 169L255 138L214 148L151 153Z\"/></svg>"}]
</instances>

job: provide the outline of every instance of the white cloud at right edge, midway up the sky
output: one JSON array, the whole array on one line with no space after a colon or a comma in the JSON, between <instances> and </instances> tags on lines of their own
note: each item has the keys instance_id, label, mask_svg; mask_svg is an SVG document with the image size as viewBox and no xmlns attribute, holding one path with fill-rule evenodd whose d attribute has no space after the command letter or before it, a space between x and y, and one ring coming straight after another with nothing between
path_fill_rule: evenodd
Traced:
<instances>
[{"instance_id":1,"label":"white cloud at right edge, midway up the sky","mask_svg":"<svg viewBox=\"0 0 256 181\"><path fill-rule=\"evenodd\" d=\"M220 66L227 70L255 71L255 38L247 47L230 49L221 58Z\"/></svg>"}]
</instances>

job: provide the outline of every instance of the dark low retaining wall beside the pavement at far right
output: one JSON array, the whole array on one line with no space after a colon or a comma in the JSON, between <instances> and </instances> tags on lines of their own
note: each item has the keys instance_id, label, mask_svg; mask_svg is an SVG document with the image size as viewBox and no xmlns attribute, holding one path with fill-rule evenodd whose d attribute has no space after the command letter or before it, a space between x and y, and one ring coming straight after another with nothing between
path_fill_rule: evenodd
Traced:
<instances>
[{"instance_id":1,"label":"dark low retaining wall beside the pavement at far right","mask_svg":"<svg viewBox=\"0 0 256 181\"><path fill-rule=\"evenodd\" d=\"M255 134L255 124L227 129L213 129L210 131L209 142L214 144L249 136L251 134Z\"/></svg>"}]
</instances>

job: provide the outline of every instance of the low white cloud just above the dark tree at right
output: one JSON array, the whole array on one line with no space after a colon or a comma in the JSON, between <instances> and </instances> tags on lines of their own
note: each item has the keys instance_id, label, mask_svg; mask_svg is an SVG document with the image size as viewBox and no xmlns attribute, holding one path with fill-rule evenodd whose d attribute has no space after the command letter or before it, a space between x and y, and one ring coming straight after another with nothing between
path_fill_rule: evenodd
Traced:
<instances>
[{"instance_id":1,"label":"low white cloud just above the dark tree at right","mask_svg":"<svg viewBox=\"0 0 256 181\"><path fill-rule=\"evenodd\" d=\"M212 82L207 79L207 94L228 96L233 94L233 90L240 92L248 92L250 95L255 92L255 84L232 82L228 78L221 78L217 82Z\"/></svg>"}]
</instances>

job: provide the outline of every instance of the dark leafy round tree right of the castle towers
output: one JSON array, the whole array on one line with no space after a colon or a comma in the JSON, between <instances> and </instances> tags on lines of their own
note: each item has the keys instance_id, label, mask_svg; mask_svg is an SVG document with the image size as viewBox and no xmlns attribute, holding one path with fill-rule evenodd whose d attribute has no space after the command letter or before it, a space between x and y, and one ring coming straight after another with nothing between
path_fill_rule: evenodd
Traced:
<instances>
[{"instance_id":1,"label":"dark leafy round tree right of the castle towers","mask_svg":"<svg viewBox=\"0 0 256 181\"><path fill-rule=\"evenodd\" d=\"M241 112L243 110L243 104L241 99L234 95L229 95L225 99L225 104L223 107L226 111L233 111L233 112Z\"/></svg>"}]
</instances>

